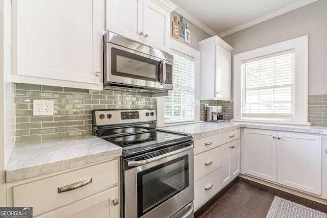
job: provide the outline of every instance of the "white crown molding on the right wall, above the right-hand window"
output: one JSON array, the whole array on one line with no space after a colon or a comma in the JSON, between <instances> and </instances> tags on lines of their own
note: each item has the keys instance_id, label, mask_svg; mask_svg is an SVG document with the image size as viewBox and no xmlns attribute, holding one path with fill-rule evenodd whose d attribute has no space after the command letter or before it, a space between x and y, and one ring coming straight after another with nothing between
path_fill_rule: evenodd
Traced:
<instances>
[{"instance_id":1,"label":"white crown molding on the right wall, above the right-hand window","mask_svg":"<svg viewBox=\"0 0 327 218\"><path fill-rule=\"evenodd\" d=\"M266 15L264 15L262 17L259 17L259 18L250 20L248 22L245 22L242 25L239 25L239 26L237 26L235 28L232 28L230 30L227 30L225 32L222 32L222 33L218 34L218 36L220 38L225 37L225 36L228 36L230 34L233 34L233 33L236 33L238 31L244 30L244 29L246 29L248 27L257 25L258 23L261 23L263 21L269 20L269 19L274 18L276 16L279 16L279 15L285 14L287 12L293 11L295 9L301 8L303 6L309 5L309 4L314 3L316 1L318 1L318 0L302 0L302 1L299 1L297 3L294 3L292 5L289 5L287 7L284 7L282 9L279 9L279 10L276 10L276 11L271 12L269 14L266 14Z\"/></svg>"}]
</instances>

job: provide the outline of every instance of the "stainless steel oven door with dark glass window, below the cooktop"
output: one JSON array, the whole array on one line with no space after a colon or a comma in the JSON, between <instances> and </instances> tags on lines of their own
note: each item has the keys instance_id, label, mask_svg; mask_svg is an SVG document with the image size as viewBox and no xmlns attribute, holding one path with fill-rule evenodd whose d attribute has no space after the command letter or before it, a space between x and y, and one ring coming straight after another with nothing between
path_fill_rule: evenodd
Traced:
<instances>
[{"instance_id":1,"label":"stainless steel oven door with dark glass window, below the cooktop","mask_svg":"<svg viewBox=\"0 0 327 218\"><path fill-rule=\"evenodd\" d=\"M124 171L124 217L193 217L193 145L153 159Z\"/></svg>"}]
</instances>

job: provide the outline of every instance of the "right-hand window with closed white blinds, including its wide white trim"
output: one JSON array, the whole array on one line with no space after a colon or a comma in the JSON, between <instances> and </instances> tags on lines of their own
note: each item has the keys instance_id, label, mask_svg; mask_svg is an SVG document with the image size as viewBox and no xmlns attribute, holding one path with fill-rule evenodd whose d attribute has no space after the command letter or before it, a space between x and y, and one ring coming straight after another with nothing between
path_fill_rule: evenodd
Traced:
<instances>
[{"instance_id":1,"label":"right-hand window with closed white blinds, including its wide white trim","mask_svg":"<svg viewBox=\"0 0 327 218\"><path fill-rule=\"evenodd\" d=\"M309 125L308 36L234 55L233 120Z\"/></svg>"}]
</instances>

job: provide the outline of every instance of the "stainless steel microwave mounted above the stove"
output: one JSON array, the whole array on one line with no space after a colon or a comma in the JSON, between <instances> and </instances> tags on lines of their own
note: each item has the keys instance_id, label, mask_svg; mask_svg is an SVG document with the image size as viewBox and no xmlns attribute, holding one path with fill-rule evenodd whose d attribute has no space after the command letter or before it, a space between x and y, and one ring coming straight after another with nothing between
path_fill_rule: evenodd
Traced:
<instances>
[{"instance_id":1,"label":"stainless steel microwave mounted above the stove","mask_svg":"<svg viewBox=\"0 0 327 218\"><path fill-rule=\"evenodd\" d=\"M104 89L145 93L173 90L173 56L107 32L103 37Z\"/></svg>"}]
</instances>

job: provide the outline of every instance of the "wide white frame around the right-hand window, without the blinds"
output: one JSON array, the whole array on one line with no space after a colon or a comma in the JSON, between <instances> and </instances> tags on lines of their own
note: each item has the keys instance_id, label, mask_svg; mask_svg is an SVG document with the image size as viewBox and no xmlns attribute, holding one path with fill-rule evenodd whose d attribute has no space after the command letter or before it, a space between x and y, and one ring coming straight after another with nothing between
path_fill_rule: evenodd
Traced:
<instances>
[{"instance_id":1,"label":"wide white frame around the right-hand window, without the blinds","mask_svg":"<svg viewBox=\"0 0 327 218\"><path fill-rule=\"evenodd\" d=\"M244 60L262 57L273 53L295 51L294 82L294 118L292 121L242 119L242 69ZM308 35L261 47L259 49L233 56L233 100L234 114L232 121L307 125L308 123Z\"/></svg>"}]
</instances>

